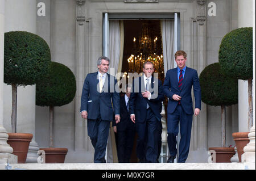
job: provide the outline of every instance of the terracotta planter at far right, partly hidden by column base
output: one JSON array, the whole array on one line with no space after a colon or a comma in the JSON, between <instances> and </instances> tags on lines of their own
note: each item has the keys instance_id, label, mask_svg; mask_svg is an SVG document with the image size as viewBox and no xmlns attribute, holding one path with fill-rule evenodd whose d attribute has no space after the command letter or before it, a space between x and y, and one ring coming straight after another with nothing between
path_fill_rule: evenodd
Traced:
<instances>
[{"instance_id":1,"label":"terracotta planter at far right, partly hidden by column base","mask_svg":"<svg viewBox=\"0 0 256 181\"><path fill-rule=\"evenodd\" d=\"M243 152L243 147L249 143L249 138L248 138L249 132L237 132L237 133L232 133L233 139L236 142L237 146L237 153L238 153L238 158L239 161L241 162L241 155L244 153Z\"/></svg>"}]
</instances>

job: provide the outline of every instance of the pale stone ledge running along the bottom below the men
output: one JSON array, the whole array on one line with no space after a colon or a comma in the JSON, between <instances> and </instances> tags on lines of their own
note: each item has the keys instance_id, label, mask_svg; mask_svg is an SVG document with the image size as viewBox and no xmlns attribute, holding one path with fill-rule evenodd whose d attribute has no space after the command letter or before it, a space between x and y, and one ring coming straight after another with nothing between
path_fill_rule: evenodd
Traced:
<instances>
[{"instance_id":1,"label":"pale stone ledge running along the bottom below the men","mask_svg":"<svg viewBox=\"0 0 256 181\"><path fill-rule=\"evenodd\" d=\"M0 170L255 170L255 163L24 163Z\"/></svg>"}]
</instances>

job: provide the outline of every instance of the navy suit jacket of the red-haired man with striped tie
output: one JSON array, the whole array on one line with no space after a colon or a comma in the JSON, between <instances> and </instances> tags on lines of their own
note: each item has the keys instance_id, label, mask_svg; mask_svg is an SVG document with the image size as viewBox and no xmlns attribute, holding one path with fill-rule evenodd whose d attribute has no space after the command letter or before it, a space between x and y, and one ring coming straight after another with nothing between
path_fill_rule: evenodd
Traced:
<instances>
[{"instance_id":1,"label":"navy suit jacket of the red-haired man with striped tie","mask_svg":"<svg viewBox=\"0 0 256 181\"><path fill-rule=\"evenodd\" d=\"M166 73L166 78L163 83L164 95L168 96L168 107L167 113L173 113L176 109L178 102L172 99L172 95L177 94L181 96L181 106L184 111L192 115L193 114L193 103L191 96L191 89L193 86L193 92L195 96L195 108L201 109L201 88L197 71L195 69L186 68L181 90L179 89L177 81L177 68L170 69Z\"/></svg>"}]
</instances>

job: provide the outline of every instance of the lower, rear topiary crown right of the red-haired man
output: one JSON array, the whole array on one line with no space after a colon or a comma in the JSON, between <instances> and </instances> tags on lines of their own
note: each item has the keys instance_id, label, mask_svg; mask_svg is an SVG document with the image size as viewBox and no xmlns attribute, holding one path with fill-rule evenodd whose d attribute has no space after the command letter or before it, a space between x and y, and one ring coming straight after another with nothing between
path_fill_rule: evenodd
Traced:
<instances>
[{"instance_id":1,"label":"lower, rear topiary crown right of the red-haired man","mask_svg":"<svg viewBox=\"0 0 256 181\"><path fill-rule=\"evenodd\" d=\"M238 103L238 81L230 78L219 63L208 65L200 74L202 101L210 106L230 106Z\"/></svg>"}]
</instances>

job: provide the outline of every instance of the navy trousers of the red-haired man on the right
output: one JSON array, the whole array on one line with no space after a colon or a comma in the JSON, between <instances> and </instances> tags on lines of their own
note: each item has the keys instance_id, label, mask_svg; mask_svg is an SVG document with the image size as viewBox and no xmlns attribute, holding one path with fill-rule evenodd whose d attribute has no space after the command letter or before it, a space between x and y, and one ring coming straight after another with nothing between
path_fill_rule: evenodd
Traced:
<instances>
[{"instance_id":1,"label":"navy trousers of the red-haired man on the right","mask_svg":"<svg viewBox=\"0 0 256 181\"><path fill-rule=\"evenodd\" d=\"M171 156L177 154L176 149L176 136L179 133L180 123L180 144L179 144L179 163L184 163L188 157L190 138L191 138L191 127L192 127L193 115L187 115L181 105L176 107L174 113L168 114L167 117L167 142Z\"/></svg>"}]
</instances>

